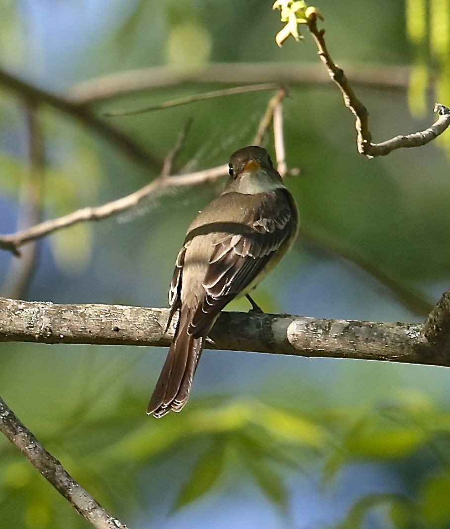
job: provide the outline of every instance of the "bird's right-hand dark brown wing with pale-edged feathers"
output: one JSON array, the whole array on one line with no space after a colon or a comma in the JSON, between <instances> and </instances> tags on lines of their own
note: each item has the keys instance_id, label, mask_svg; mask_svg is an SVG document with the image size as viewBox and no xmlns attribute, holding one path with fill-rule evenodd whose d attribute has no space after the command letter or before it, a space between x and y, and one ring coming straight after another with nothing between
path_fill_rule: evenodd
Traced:
<instances>
[{"instance_id":1,"label":"bird's right-hand dark brown wing with pale-edged feathers","mask_svg":"<svg viewBox=\"0 0 450 529\"><path fill-rule=\"evenodd\" d=\"M282 247L288 247L297 228L297 209L289 192L265 194L250 212L249 225L250 232L224 233L215 244L203 281L205 297L188 327L194 338L204 336L225 305L270 266L277 250L282 254Z\"/></svg>"}]
</instances>

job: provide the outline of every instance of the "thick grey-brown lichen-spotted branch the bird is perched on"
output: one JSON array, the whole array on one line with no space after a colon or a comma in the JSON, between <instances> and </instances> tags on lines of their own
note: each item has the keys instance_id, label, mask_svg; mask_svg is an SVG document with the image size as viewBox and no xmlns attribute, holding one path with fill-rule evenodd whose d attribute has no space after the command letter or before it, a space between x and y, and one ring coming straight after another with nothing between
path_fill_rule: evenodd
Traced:
<instances>
[{"instance_id":1,"label":"thick grey-brown lichen-spotted branch the bird is perched on","mask_svg":"<svg viewBox=\"0 0 450 529\"><path fill-rule=\"evenodd\" d=\"M176 323L164 333L168 315L166 308L0 298L0 341L166 346ZM420 324L408 323L225 312L214 325L207 348L450 366L448 351L435 349Z\"/></svg>"}]
</instances>

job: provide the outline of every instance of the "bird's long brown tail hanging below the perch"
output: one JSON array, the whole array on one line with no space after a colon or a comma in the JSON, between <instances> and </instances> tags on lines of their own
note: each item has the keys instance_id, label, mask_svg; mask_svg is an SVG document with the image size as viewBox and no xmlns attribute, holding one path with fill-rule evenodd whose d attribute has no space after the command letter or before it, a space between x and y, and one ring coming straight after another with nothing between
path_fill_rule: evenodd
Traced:
<instances>
[{"instance_id":1,"label":"bird's long brown tail hanging below the perch","mask_svg":"<svg viewBox=\"0 0 450 529\"><path fill-rule=\"evenodd\" d=\"M205 341L203 336L194 338L189 334L191 321L191 311L182 308L175 338L147 407L147 413L156 418L163 417L171 410L180 412L187 403Z\"/></svg>"}]
</instances>

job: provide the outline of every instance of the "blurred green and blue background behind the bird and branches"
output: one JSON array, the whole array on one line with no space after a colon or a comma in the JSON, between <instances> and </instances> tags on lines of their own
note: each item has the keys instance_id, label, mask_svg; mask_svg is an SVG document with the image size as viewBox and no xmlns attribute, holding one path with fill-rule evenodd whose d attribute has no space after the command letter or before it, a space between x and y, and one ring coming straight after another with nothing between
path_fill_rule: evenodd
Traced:
<instances>
[{"instance_id":1,"label":"blurred green and blue background behind the bird and branches","mask_svg":"<svg viewBox=\"0 0 450 529\"><path fill-rule=\"evenodd\" d=\"M26 78L33 72L36 85L55 92L80 79L139 67L170 65L194 74L208 61L317 61L307 38L301 49L289 40L277 48L273 35L279 21L270 4L49 2L40 4L36 19L33 2L7 0L0 7L0 59ZM448 5L444 0L323 0L319 7L330 53L339 64L411 62L409 102L420 111L432 106L426 90L434 76L437 99L445 104L449 97ZM36 50L47 53L46 61L36 60ZM127 104L157 104L216 87L161 87L131 95ZM371 112L375 141L429 124L430 112L427 121L413 122L398 93L355 88ZM251 141L269 97L244 94L114 123L163 158L194 116L177 169L202 169L224 163ZM27 167L18 108L13 96L2 93L2 232L14 230ZM302 169L288 186L304 226L435 299L450 279L450 184L443 153L433 144L371 162L359 157L352 118L331 84L292 87L284 116L288 163ZM66 116L42 108L39 118L47 158L47 218L123 196L155 176ZM442 141L449 137L444 134ZM271 149L270 137L267 146ZM118 221L52 235L42 244L28 297L165 305L185 228L221 186L168 190ZM7 259L0 261L2 271ZM357 275L355 266L347 270L302 241L255 298L271 312L417 318ZM231 308L247 307L237 302ZM341 529L450 525L450 395L443 370L205 353L189 406L180 415L153 421L143 408L160 363L156 354L133 349L54 346L49 351L5 344L0 370L8 404L67 470L105 507L131 520L130 526L172 521L170 527L188 527L188 518L177 518L180 513L189 517L212 505L214 522L224 519L225 527L236 496L249 499L246 510L254 508L255 516L265 513L267 527L306 527L301 524L307 515L321 527ZM203 379L202 372L208 373ZM380 474L382 485L376 482ZM361 486L352 490L349 479L359 479ZM336 490L341 495L333 500ZM310 499L304 507L302 497ZM332 514L326 512L329 503ZM197 518L191 514L190 525L208 526L199 512ZM5 527L87 527L4 440L0 513Z\"/></svg>"}]
</instances>

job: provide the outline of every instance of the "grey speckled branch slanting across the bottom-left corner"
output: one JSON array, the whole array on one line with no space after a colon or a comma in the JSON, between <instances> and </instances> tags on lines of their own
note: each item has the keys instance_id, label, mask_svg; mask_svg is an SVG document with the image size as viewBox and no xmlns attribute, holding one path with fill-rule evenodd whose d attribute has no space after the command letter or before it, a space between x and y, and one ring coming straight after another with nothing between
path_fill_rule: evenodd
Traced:
<instances>
[{"instance_id":1,"label":"grey speckled branch slanting across the bottom-left corner","mask_svg":"<svg viewBox=\"0 0 450 529\"><path fill-rule=\"evenodd\" d=\"M126 529L126 525L108 513L63 468L0 397L0 432L39 470L42 476L65 497L70 505L97 529Z\"/></svg>"}]
</instances>

